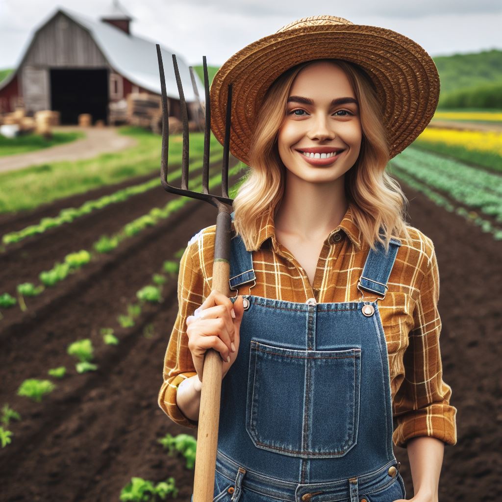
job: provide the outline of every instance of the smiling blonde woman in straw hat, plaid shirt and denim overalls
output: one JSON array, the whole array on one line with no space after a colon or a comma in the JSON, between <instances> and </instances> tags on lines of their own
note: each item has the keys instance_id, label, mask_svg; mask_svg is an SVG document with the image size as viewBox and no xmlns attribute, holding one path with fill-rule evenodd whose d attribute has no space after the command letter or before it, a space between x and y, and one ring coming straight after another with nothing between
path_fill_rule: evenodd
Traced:
<instances>
[{"instance_id":1,"label":"smiling blonde woman in straw hat, plaid shirt and denim overalls","mask_svg":"<svg viewBox=\"0 0 502 502\"><path fill-rule=\"evenodd\" d=\"M228 81L230 151L250 166L232 213L235 296L210 292L215 227L204 228L181 260L159 405L196 426L214 348L215 499L402 500L394 442L408 450L412 500L436 501L444 444L456 443L437 261L385 171L434 113L434 63L390 30L296 21L219 69L220 142Z\"/></svg>"}]
</instances>

